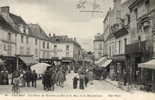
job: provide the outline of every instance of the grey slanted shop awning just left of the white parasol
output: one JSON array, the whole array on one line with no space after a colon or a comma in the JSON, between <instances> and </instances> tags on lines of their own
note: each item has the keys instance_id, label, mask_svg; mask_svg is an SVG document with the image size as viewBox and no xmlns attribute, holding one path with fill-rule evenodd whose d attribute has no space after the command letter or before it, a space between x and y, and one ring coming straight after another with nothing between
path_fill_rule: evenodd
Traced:
<instances>
[{"instance_id":1,"label":"grey slanted shop awning just left of the white parasol","mask_svg":"<svg viewBox=\"0 0 155 100\"><path fill-rule=\"evenodd\" d=\"M37 63L37 61L33 58L33 56L19 56L19 58L20 58L27 66Z\"/></svg>"}]
</instances>

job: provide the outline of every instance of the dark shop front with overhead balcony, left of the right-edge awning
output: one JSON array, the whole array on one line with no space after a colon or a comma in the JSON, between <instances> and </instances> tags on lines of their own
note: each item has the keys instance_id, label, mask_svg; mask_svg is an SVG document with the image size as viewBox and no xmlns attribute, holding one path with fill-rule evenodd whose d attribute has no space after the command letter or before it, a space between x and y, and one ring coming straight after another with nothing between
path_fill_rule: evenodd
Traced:
<instances>
[{"instance_id":1,"label":"dark shop front with overhead balcony, left of the right-edge awning","mask_svg":"<svg viewBox=\"0 0 155 100\"><path fill-rule=\"evenodd\" d=\"M129 71L129 82L131 84L142 83L142 71L138 64L147 61L151 55L151 49L147 49L147 41L139 41L126 47L127 69Z\"/></svg>"}]
</instances>

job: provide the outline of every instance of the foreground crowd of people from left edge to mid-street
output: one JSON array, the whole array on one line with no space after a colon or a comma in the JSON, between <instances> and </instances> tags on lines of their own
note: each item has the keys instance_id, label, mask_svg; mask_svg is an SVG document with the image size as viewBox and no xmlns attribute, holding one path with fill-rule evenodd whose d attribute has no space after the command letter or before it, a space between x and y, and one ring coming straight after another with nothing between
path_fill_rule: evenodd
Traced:
<instances>
[{"instance_id":1,"label":"foreground crowd of people from left edge to mid-street","mask_svg":"<svg viewBox=\"0 0 155 100\"><path fill-rule=\"evenodd\" d=\"M72 69L73 70L73 69ZM79 67L77 71L73 70L73 89L85 89L87 84L94 78L93 70L88 70L85 67ZM70 68L65 65L48 66L44 73L37 74L35 70L15 70L9 78L9 73L6 69L0 72L0 84L9 85L16 84L19 87L34 87L37 88L37 80L42 80L43 90L54 91L55 86L64 87L66 75L70 73Z\"/></svg>"}]
</instances>

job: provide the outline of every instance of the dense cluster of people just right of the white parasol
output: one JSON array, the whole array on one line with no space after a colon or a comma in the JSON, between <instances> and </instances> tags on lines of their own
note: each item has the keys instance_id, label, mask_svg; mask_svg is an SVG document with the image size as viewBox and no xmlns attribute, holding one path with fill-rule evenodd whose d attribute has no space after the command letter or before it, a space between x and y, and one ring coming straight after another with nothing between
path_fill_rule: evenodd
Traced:
<instances>
[{"instance_id":1,"label":"dense cluster of people just right of the white parasol","mask_svg":"<svg viewBox=\"0 0 155 100\"><path fill-rule=\"evenodd\" d=\"M54 86L64 87L64 81L66 80L67 67L65 66L52 66L47 67L46 71L42 75L42 84L44 90L54 91Z\"/></svg>"}]
</instances>

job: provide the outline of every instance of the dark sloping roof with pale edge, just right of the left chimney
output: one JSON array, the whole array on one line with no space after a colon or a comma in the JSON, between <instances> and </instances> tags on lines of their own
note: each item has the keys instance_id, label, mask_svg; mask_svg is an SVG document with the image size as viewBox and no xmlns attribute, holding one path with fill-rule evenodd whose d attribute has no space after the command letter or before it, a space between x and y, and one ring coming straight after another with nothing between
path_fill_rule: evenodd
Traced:
<instances>
[{"instance_id":1,"label":"dark sloping roof with pale edge, just right of the left chimney","mask_svg":"<svg viewBox=\"0 0 155 100\"><path fill-rule=\"evenodd\" d=\"M26 25L25 21L20 16L10 13L10 17L12 18L12 20L14 21L16 25L18 24Z\"/></svg>"}]
</instances>

